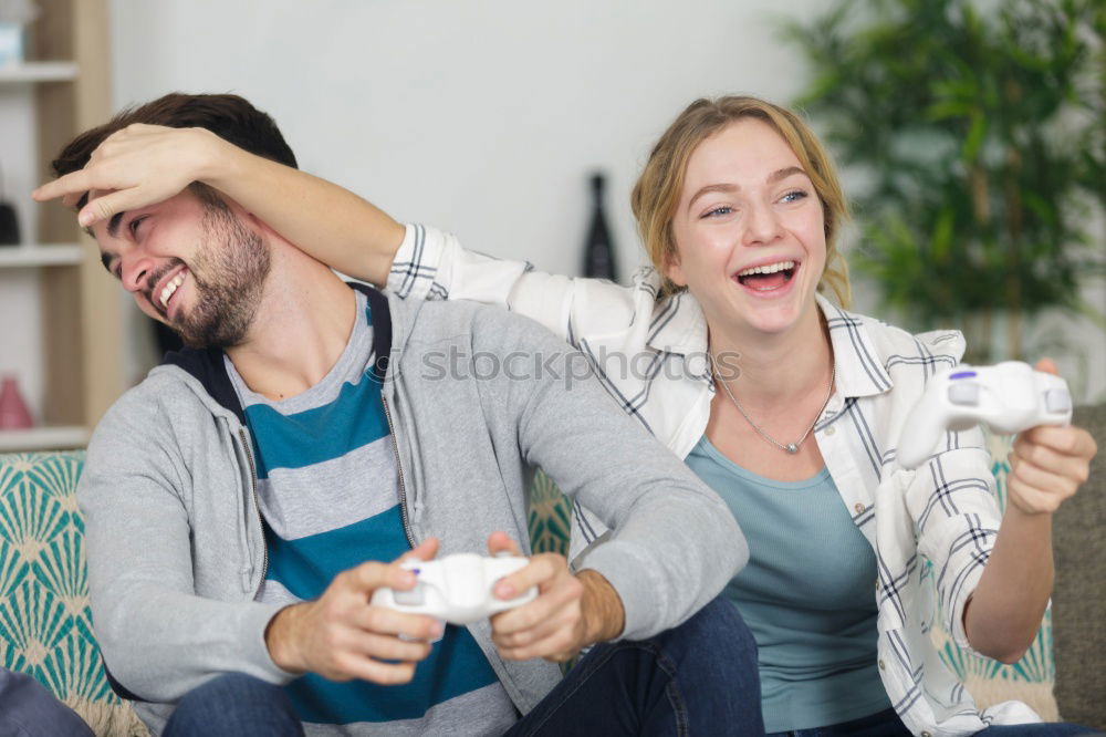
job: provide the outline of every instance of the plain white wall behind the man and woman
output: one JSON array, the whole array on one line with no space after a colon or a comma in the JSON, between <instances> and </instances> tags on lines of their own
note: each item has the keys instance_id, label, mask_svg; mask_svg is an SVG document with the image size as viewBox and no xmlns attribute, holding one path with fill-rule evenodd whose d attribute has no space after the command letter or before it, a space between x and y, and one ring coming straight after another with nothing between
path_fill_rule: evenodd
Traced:
<instances>
[{"instance_id":1,"label":"plain white wall behind the man and woman","mask_svg":"<svg viewBox=\"0 0 1106 737\"><path fill-rule=\"evenodd\" d=\"M273 115L302 168L471 248L566 273L601 167L625 277L643 260L629 190L656 137L700 95L791 100L807 73L775 21L830 4L113 0L114 103L237 92ZM1075 340L1103 365L1100 330ZM1106 388L1093 374L1084 396Z\"/></svg>"}]
</instances>

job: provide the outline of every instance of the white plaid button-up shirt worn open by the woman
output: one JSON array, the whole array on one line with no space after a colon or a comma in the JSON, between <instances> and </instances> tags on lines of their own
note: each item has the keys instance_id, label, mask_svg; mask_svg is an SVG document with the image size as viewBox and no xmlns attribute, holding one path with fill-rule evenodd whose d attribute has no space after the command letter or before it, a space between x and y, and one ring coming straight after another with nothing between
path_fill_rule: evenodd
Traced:
<instances>
[{"instance_id":1,"label":"white plaid button-up shirt worn open by the woman","mask_svg":"<svg viewBox=\"0 0 1106 737\"><path fill-rule=\"evenodd\" d=\"M455 237L424 226L407 227L388 279L399 297L477 300L542 323L588 357L624 411L685 458L707 428L714 393L707 323L695 298L682 292L658 301L659 287L651 268L639 270L630 287L536 272L529 263L467 251ZM963 608L1000 521L978 429L947 433L917 470L896 461L909 411L935 373L959 363L963 336L910 335L821 295L818 307L837 376L814 437L842 501L876 552L877 651L891 704L922 736L1039 722L1018 702L980 712L929 636L936 593L946 630L969 647ZM578 507L573 517L575 558L604 528ZM932 563L931 572L922 560Z\"/></svg>"}]
</instances>

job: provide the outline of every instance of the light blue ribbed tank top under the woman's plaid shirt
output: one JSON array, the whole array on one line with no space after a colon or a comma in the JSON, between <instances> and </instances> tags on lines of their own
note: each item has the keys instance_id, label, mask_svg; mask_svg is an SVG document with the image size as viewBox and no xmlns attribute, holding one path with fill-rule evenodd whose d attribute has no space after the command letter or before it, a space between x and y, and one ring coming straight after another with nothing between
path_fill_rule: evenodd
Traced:
<instances>
[{"instance_id":1,"label":"light blue ribbed tank top under the woman's plaid shirt","mask_svg":"<svg viewBox=\"0 0 1106 737\"><path fill-rule=\"evenodd\" d=\"M726 595L757 640L764 728L812 729L890 707L876 656L876 557L830 471L774 481L707 436L688 466L729 505L749 564Z\"/></svg>"}]
</instances>

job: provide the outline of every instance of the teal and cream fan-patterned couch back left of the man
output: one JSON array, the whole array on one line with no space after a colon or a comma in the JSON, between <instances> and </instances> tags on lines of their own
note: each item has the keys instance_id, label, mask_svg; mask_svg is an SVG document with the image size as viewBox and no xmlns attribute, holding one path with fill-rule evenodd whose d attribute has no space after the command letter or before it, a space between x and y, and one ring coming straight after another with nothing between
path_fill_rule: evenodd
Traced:
<instances>
[{"instance_id":1,"label":"teal and cream fan-patterned couch back left of the man","mask_svg":"<svg viewBox=\"0 0 1106 737\"><path fill-rule=\"evenodd\" d=\"M146 735L92 634L83 466L83 451L0 455L0 666L34 676L97 735Z\"/></svg>"}]
</instances>

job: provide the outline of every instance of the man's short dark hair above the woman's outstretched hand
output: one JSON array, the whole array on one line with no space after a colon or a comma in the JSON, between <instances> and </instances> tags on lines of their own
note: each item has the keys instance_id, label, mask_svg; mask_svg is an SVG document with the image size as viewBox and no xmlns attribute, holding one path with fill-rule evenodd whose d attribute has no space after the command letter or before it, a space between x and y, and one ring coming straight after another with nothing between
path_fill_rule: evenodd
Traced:
<instances>
[{"instance_id":1,"label":"man's short dark hair above the woman's outstretched hand","mask_svg":"<svg viewBox=\"0 0 1106 737\"><path fill-rule=\"evenodd\" d=\"M187 95L174 92L137 107L128 107L107 123L85 131L52 163L54 174L64 176L83 169L92 152L109 135L133 123L173 128L207 128L251 154L299 168L276 123L238 95Z\"/></svg>"}]
</instances>

